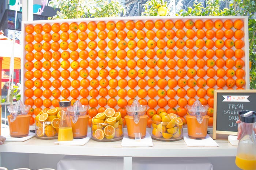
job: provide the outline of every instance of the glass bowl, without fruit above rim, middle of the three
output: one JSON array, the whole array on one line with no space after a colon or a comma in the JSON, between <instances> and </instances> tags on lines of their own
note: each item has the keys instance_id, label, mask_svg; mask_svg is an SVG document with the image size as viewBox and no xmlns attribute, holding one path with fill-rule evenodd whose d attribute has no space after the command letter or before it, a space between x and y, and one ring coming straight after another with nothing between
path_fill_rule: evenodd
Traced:
<instances>
[{"instance_id":1,"label":"glass bowl, without fruit above rim, middle of the three","mask_svg":"<svg viewBox=\"0 0 256 170\"><path fill-rule=\"evenodd\" d=\"M124 137L123 125L116 123L95 123L91 124L91 138L99 142L119 141Z\"/></svg>"}]
</instances>

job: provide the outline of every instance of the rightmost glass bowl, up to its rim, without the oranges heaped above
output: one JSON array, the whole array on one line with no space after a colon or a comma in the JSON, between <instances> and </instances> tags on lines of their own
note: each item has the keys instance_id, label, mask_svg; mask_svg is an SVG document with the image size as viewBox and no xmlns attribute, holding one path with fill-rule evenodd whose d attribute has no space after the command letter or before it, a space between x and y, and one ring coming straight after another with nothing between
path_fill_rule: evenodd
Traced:
<instances>
[{"instance_id":1,"label":"rightmost glass bowl, up to its rim, without the oranges heaped above","mask_svg":"<svg viewBox=\"0 0 256 170\"><path fill-rule=\"evenodd\" d=\"M178 141L183 138L182 121L172 119L170 122L154 122L151 137L157 141Z\"/></svg>"}]
</instances>

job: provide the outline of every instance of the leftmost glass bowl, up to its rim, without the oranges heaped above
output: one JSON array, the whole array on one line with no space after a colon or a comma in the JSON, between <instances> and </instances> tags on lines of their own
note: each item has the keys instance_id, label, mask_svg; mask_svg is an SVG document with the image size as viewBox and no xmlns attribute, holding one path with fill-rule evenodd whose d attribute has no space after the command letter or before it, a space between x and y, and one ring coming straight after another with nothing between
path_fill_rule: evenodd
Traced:
<instances>
[{"instance_id":1,"label":"leftmost glass bowl, up to its rim, without the oranges heaped above","mask_svg":"<svg viewBox=\"0 0 256 170\"><path fill-rule=\"evenodd\" d=\"M38 139L57 139L59 128L54 128L51 123L35 120L35 137Z\"/></svg>"}]
</instances>

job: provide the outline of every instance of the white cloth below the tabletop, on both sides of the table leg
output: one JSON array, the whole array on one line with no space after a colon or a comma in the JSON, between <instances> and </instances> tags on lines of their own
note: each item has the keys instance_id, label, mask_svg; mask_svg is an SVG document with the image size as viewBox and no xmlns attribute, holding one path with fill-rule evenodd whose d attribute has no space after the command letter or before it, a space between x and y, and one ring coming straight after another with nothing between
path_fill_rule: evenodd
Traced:
<instances>
[{"instance_id":1,"label":"white cloth below the tabletop, on both sides of the table leg","mask_svg":"<svg viewBox=\"0 0 256 170\"><path fill-rule=\"evenodd\" d=\"M67 155L58 170L123 170L123 157L89 157ZM213 170L202 158L132 158L132 170Z\"/></svg>"}]
</instances>

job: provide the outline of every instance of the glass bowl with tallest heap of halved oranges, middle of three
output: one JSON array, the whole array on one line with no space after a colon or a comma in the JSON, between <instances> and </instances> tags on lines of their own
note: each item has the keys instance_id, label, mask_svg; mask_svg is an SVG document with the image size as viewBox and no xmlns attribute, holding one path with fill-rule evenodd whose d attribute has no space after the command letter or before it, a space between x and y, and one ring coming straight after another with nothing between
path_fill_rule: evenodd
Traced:
<instances>
[{"instance_id":1,"label":"glass bowl with tallest heap of halved oranges, middle of three","mask_svg":"<svg viewBox=\"0 0 256 170\"><path fill-rule=\"evenodd\" d=\"M92 139L99 142L112 142L123 139L123 119L120 112L107 108L91 120Z\"/></svg>"}]
</instances>

